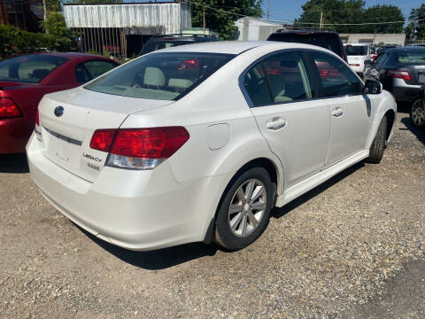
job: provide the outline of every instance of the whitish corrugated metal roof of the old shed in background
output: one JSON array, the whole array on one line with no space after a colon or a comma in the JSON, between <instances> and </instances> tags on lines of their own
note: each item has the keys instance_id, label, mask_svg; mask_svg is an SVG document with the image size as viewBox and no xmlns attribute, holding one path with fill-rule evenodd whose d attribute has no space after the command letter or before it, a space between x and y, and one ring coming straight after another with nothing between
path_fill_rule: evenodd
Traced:
<instances>
[{"instance_id":1,"label":"whitish corrugated metal roof of the old shed in background","mask_svg":"<svg viewBox=\"0 0 425 319\"><path fill-rule=\"evenodd\" d=\"M174 34L191 27L189 4L64 5L66 27L137 27L145 34Z\"/></svg>"}]
</instances>

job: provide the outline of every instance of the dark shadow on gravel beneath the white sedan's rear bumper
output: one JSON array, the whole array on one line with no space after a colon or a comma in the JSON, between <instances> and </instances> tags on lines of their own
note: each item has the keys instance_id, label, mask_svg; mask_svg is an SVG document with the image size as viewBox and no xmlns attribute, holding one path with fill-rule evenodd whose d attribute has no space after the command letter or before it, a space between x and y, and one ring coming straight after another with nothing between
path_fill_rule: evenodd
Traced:
<instances>
[{"instance_id":1,"label":"dark shadow on gravel beneath the white sedan's rear bumper","mask_svg":"<svg viewBox=\"0 0 425 319\"><path fill-rule=\"evenodd\" d=\"M112 253L121 261L128 262L135 267L149 270L159 270L180 265L187 261L196 260L205 256L213 256L218 247L216 245L205 245L203 243L191 243L178 245L170 248L158 249L151 252L133 252L116 245L111 245L97 238L86 230L77 226L85 235L90 237L97 245Z\"/></svg>"}]
</instances>

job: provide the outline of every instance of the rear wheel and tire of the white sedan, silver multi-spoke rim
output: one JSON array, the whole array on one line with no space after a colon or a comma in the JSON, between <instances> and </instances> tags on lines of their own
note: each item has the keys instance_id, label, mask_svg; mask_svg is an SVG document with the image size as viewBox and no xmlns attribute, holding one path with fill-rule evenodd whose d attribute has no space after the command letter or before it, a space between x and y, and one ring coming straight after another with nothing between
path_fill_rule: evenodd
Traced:
<instances>
[{"instance_id":1,"label":"rear wheel and tire of the white sedan, silver multi-spoke rim","mask_svg":"<svg viewBox=\"0 0 425 319\"><path fill-rule=\"evenodd\" d=\"M270 175L262 167L253 167L237 176L220 201L215 243L235 251L254 242L267 228L275 190Z\"/></svg>"}]
</instances>

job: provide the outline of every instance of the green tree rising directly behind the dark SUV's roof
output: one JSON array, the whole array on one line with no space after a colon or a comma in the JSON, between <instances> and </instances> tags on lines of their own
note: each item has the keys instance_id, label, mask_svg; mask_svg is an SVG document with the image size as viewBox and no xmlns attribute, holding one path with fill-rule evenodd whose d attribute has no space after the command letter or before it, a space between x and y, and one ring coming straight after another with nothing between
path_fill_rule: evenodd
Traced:
<instances>
[{"instance_id":1,"label":"green tree rising directly behind the dark SUV's roof","mask_svg":"<svg viewBox=\"0 0 425 319\"><path fill-rule=\"evenodd\" d=\"M345 24L361 23L363 0L309 0L302 5L303 13L296 19L295 27L319 27L321 13L324 27L327 23ZM312 24L309 24L312 23ZM358 33L358 26L333 26L339 33Z\"/></svg>"}]
</instances>

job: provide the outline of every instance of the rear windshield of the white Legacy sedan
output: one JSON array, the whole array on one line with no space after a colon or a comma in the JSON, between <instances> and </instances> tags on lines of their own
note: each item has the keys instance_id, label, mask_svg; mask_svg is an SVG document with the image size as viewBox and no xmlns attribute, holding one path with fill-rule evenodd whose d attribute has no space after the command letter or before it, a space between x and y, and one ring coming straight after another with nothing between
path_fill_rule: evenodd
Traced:
<instances>
[{"instance_id":1,"label":"rear windshield of the white Legacy sedan","mask_svg":"<svg viewBox=\"0 0 425 319\"><path fill-rule=\"evenodd\" d=\"M104 74L85 88L123 97L174 100L234 57L220 53L152 53Z\"/></svg>"}]
</instances>

